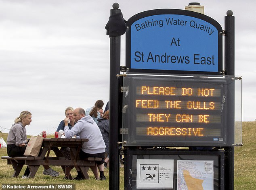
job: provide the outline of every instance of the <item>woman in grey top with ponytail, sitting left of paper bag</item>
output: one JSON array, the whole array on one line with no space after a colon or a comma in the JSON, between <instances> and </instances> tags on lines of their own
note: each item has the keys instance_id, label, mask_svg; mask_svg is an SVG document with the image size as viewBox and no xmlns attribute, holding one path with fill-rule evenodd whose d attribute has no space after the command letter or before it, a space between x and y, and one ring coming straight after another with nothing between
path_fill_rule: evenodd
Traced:
<instances>
[{"instance_id":1,"label":"woman in grey top with ponytail, sitting left of paper bag","mask_svg":"<svg viewBox=\"0 0 256 190\"><path fill-rule=\"evenodd\" d=\"M15 118L13 126L7 136L7 155L9 157L23 156L27 146L27 130L26 126L30 125L32 121L32 114L28 111L23 111L19 117ZM22 179L26 179L29 176L29 168L25 170ZM54 171L48 165L44 165L44 175L50 175L52 177L59 176L59 172Z\"/></svg>"}]
</instances>

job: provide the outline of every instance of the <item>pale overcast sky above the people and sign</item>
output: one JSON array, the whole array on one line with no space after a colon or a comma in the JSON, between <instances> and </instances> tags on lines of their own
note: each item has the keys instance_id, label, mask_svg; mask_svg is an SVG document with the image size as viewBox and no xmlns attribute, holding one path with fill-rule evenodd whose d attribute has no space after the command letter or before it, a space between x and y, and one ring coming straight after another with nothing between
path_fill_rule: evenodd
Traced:
<instances>
[{"instance_id":1,"label":"pale overcast sky above the people and sign","mask_svg":"<svg viewBox=\"0 0 256 190\"><path fill-rule=\"evenodd\" d=\"M23 110L32 113L27 134L53 133L68 106L109 101L112 0L0 0L0 126L10 128ZM128 20L158 8L184 9L188 0L117 1ZM192 1L193 2L193 1ZM242 75L243 121L256 119L256 17L254 0L200 0L224 29L235 16L235 74ZM125 65L125 35L121 38ZM105 107L104 105L104 107ZM2 132L8 132L0 128Z\"/></svg>"}]
</instances>

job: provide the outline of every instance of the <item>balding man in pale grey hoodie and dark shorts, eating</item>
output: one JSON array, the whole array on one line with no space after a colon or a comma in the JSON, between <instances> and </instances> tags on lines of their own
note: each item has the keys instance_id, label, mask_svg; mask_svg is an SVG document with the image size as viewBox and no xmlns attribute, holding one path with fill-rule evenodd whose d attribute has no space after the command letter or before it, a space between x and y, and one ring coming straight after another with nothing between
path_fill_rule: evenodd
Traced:
<instances>
[{"instance_id":1,"label":"balding man in pale grey hoodie and dark shorts, eating","mask_svg":"<svg viewBox=\"0 0 256 190\"><path fill-rule=\"evenodd\" d=\"M88 138L88 142L84 142L82 149L79 153L81 159L88 157L101 157L101 161L96 161L96 164L100 171L100 178L97 166L91 166L92 172L96 180L106 180L104 176L104 159L105 159L105 142L103 140L101 131L97 124L94 122L90 115L85 116L85 111L83 108L78 107L74 109L73 116L75 118L76 124L69 129L68 118L64 119L65 123L65 136L66 138L72 138L78 134L79 138ZM74 180L83 180L82 172L78 171L78 176Z\"/></svg>"}]
</instances>

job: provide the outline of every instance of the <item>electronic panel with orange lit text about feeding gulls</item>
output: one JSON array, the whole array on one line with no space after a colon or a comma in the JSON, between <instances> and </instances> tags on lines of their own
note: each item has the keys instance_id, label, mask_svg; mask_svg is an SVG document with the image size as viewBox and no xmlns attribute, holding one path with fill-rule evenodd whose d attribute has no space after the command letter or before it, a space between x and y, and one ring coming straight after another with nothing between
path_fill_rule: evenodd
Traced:
<instances>
[{"instance_id":1,"label":"electronic panel with orange lit text about feeding gulls","mask_svg":"<svg viewBox=\"0 0 256 190\"><path fill-rule=\"evenodd\" d=\"M128 75L124 89L126 146L227 145L225 78Z\"/></svg>"}]
</instances>

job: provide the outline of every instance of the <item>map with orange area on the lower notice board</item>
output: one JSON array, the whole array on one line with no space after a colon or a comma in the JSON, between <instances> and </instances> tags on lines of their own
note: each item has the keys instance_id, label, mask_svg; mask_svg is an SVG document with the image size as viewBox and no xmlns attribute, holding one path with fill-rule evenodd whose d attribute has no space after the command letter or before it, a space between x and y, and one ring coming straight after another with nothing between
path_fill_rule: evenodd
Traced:
<instances>
[{"instance_id":1,"label":"map with orange area on the lower notice board","mask_svg":"<svg viewBox=\"0 0 256 190\"><path fill-rule=\"evenodd\" d=\"M178 190L213 190L213 161L178 160Z\"/></svg>"}]
</instances>

